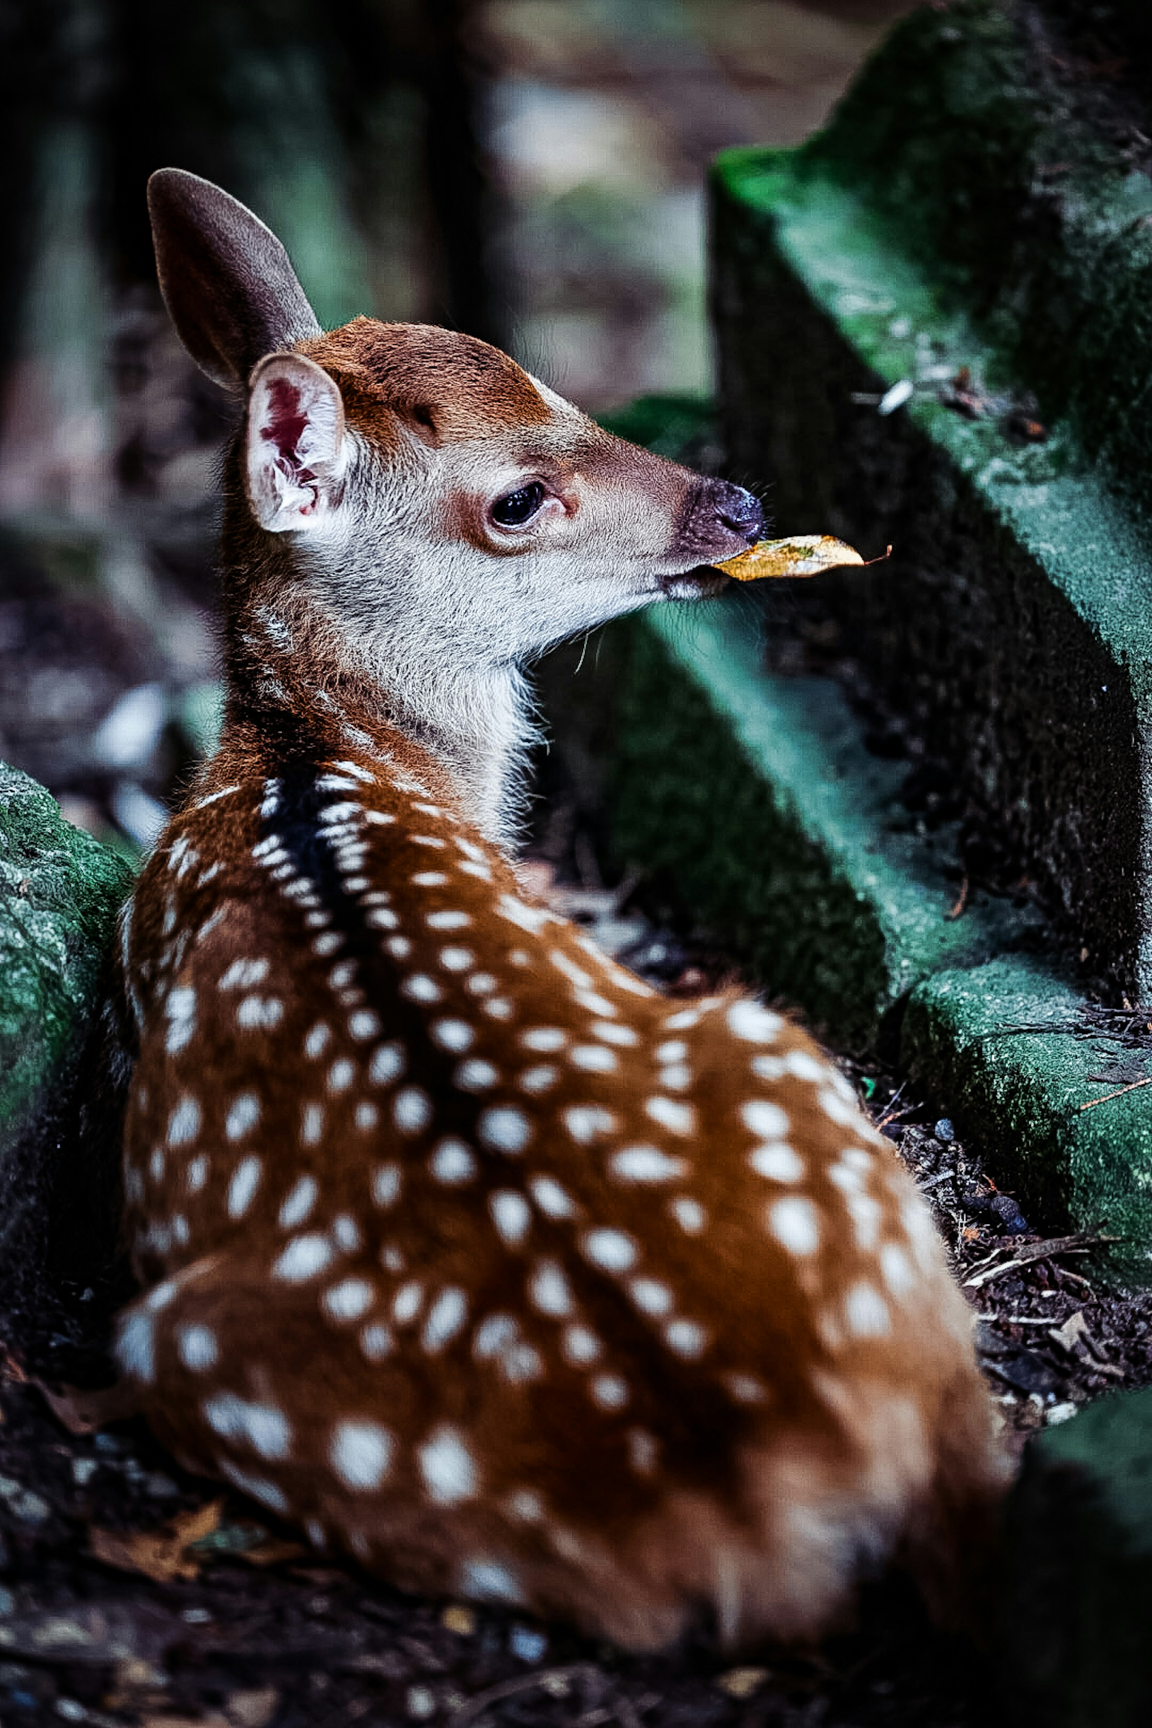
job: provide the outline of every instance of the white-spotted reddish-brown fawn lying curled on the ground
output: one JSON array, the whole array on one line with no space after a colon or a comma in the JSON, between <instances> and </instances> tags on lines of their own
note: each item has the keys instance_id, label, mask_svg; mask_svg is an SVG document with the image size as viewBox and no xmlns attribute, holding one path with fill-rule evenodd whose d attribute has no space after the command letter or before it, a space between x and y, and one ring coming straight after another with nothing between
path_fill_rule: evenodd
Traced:
<instances>
[{"instance_id":1,"label":"white-spotted reddish-brown fawn lying curled on the ground","mask_svg":"<svg viewBox=\"0 0 1152 1728\"><path fill-rule=\"evenodd\" d=\"M1000 1483L914 1184L782 1016L667 1001L516 880L520 664L762 525L499 351L321 334L278 240L152 178L237 396L223 741L123 921L157 1434L394 1581L634 1649L929 1590ZM933 1586L933 1579L936 1579Z\"/></svg>"}]
</instances>

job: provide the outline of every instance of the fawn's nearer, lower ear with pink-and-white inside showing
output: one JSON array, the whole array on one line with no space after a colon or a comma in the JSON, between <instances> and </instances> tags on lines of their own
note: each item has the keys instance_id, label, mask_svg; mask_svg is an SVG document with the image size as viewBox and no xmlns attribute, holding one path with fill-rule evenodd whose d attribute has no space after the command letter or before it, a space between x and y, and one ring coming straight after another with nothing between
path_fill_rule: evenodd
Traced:
<instances>
[{"instance_id":1,"label":"fawn's nearer, lower ear with pink-and-white inside showing","mask_svg":"<svg viewBox=\"0 0 1152 1728\"><path fill-rule=\"evenodd\" d=\"M344 399L302 354L268 354L252 373L247 486L263 529L314 529L332 511L347 463Z\"/></svg>"}]
</instances>

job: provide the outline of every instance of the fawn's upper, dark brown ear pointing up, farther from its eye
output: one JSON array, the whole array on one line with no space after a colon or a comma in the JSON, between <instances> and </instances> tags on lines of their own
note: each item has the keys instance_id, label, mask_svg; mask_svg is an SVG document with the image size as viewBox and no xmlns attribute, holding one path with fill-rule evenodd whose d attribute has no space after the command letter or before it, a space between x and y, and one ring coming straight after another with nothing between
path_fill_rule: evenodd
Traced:
<instances>
[{"instance_id":1,"label":"fawn's upper, dark brown ear pointing up, farther from its eye","mask_svg":"<svg viewBox=\"0 0 1152 1728\"><path fill-rule=\"evenodd\" d=\"M211 180L161 168L149 180L161 290L197 366L230 389L257 359L320 335L271 228Z\"/></svg>"}]
</instances>

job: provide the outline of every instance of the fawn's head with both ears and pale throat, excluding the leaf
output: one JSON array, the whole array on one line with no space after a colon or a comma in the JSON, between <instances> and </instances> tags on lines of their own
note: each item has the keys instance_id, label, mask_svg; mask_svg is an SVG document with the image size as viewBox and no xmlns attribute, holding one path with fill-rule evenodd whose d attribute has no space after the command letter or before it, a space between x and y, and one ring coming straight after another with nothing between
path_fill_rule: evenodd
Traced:
<instances>
[{"instance_id":1,"label":"fawn's head with both ears and pale throat, excluding the leaf","mask_svg":"<svg viewBox=\"0 0 1152 1728\"><path fill-rule=\"evenodd\" d=\"M195 175L161 169L149 200L176 330L244 399L225 534L235 683L259 679L252 643L290 617L302 651L373 688L504 836L523 662L724 588L706 567L756 539L758 501L613 437L475 337L373 318L321 334L275 235Z\"/></svg>"}]
</instances>

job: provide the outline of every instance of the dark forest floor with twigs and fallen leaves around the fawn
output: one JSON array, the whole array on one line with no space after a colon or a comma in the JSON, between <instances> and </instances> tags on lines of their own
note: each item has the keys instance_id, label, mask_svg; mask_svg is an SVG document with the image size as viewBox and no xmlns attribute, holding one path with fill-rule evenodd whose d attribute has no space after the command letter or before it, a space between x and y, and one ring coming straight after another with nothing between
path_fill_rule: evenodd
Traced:
<instances>
[{"instance_id":1,"label":"dark forest floor with twigs and fallen leaves around the fawn","mask_svg":"<svg viewBox=\"0 0 1152 1728\"><path fill-rule=\"evenodd\" d=\"M674 995L734 975L618 890L532 886ZM642 890L632 900L641 900ZM978 1315L1019 1450L1085 1401L1152 1381L1152 1296L1045 1244L940 1104L843 1063L926 1192ZM1031 1255L1031 1258L1029 1258ZM1019 1265L1017 1261L1024 1261ZM1028 1721L997 1664L927 1623L912 1586L865 1586L819 1649L737 1662L699 1626L656 1657L522 1614L404 1597L183 1474L138 1422L66 1431L9 1363L0 1384L0 1721L142 1728L995 1728Z\"/></svg>"}]
</instances>

